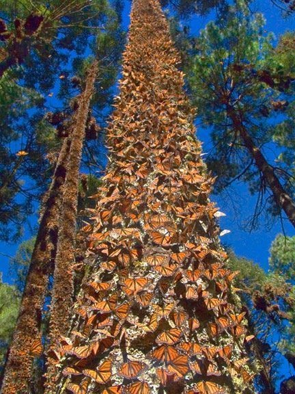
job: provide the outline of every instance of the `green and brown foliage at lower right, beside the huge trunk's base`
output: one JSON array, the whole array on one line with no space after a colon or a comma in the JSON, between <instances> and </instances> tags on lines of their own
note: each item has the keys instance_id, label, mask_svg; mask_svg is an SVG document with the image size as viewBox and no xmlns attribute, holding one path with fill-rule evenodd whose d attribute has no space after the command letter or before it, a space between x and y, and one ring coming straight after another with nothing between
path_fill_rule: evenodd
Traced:
<instances>
[{"instance_id":1,"label":"green and brown foliage at lower right, beside the huge trunk's base","mask_svg":"<svg viewBox=\"0 0 295 394\"><path fill-rule=\"evenodd\" d=\"M270 271L229 251L229 267L238 271L234 286L242 289L242 304L247 306L249 330L256 335L249 352L264 364L257 377L262 393L275 392L279 382L281 357L295 354L294 239L279 235L272 244ZM293 260L292 260L293 259ZM279 352L278 352L279 350ZM260 392L260 391L259 391Z\"/></svg>"}]
</instances>

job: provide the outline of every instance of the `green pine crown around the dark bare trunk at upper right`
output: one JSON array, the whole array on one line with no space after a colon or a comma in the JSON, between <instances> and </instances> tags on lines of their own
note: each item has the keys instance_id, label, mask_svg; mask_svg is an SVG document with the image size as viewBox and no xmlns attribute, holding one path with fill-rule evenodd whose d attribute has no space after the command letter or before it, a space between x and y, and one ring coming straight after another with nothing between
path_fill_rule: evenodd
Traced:
<instances>
[{"instance_id":1,"label":"green pine crown around the dark bare trunk at upper right","mask_svg":"<svg viewBox=\"0 0 295 394\"><path fill-rule=\"evenodd\" d=\"M292 34L287 34L275 48L272 38L264 30L263 16L250 14L239 1L193 40L191 51L196 54L186 73L201 124L210 129L212 149L207 163L218 176L216 192L236 180L246 182L251 194L264 196L267 187L229 116L230 107L274 166L285 190L294 195L288 168L290 161L294 165L289 147L294 148L294 139L289 134L287 140L294 113L294 42ZM285 41L289 42L287 51ZM276 162L266 155L266 148L274 147L280 151ZM278 214L275 199L265 196L267 210Z\"/></svg>"}]
</instances>

